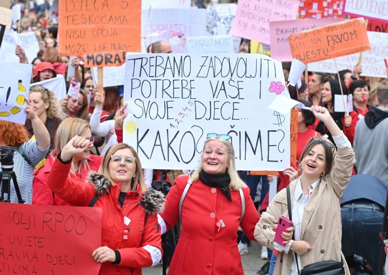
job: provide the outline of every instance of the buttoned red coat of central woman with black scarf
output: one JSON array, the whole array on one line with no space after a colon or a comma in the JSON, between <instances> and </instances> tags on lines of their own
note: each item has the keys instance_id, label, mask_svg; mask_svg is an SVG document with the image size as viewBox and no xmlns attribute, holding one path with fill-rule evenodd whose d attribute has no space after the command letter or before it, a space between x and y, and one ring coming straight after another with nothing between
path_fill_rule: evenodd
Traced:
<instances>
[{"instance_id":1,"label":"buttoned red coat of central woman with black scarf","mask_svg":"<svg viewBox=\"0 0 388 275\"><path fill-rule=\"evenodd\" d=\"M179 219L179 200L187 180L187 175L177 177L166 197L165 210L161 216L167 229L175 226ZM240 225L245 235L254 240L253 232L259 221L258 211L249 196L249 188L243 188L245 214L240 223L239 191L230 190L232 201L229 201L220 188L216 188L215 193L211 189L197 181L186 194L179 242L171 260L169 275L244 274L237 247L237 231ZM217 218L210 217L214 211L225 223L220 231L216 227Z\"/></svg>"}]
</instances>

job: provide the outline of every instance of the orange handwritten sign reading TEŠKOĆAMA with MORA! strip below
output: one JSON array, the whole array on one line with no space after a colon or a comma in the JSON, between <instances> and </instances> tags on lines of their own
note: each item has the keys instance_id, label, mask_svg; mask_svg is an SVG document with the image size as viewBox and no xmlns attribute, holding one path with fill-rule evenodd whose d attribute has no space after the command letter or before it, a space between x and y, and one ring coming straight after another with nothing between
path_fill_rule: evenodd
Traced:
<instances>
[{"instance_id":1,"label":"orange handwritten sign reading TE\u0160KO\u0106AMA with MORA! strip below","mask_svg":"<svg viewBox=\"0 0 388 275\"><path fill-rule=\"evenodd\" d=\"M59 1L59 51L88 67L117 66L140 52L141 0Z\"/></svg>"}]
</instances>

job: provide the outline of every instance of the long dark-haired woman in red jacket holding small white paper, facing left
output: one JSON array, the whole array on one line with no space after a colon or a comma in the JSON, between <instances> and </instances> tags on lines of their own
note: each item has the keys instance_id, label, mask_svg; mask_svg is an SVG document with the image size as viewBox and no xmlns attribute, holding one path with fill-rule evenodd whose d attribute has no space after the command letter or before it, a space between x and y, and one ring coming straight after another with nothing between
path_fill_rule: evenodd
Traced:
<instances>
[{"instance_id":1,"label":"long dark-haired woman in red jacket holding small white paper, facing left","mask_svg":"<svg viewBox=\"0 0 388 275\"><path fill-rule=\"evenodd\" d=\"M347 95L348 89L345 83L341 81L342 91L344 95ZM329 79L323 85L322 90L322 103L323 107L326 107L330 112L331 117L334 119L339 129L343 131L343 134L349 139L350 143L353 144L355 138L356 124L359 121L357 113L355 111L345 114L344 112L334 112L334 95L341 94L338 79ZM319 119L315 120L313 129L322 135L327 135L328 138L334 142L327 127Z\"/></svg>"}]
</instances>

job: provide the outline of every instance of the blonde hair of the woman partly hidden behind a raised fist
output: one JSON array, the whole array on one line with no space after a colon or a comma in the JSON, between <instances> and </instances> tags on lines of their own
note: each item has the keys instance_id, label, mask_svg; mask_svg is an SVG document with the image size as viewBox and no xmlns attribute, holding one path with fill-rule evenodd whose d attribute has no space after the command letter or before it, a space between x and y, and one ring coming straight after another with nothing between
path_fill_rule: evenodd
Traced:
<instances>
[{"instance_id":1,"label":"blonde hair of the woman partly hidden behind a raised fist","mask_svg":"<svg viewBox=\"0 0 388 275\"><path fill-rule=\"evenodd\" d=\"M55 158L55 155L64 149L65 145L70 141L70 139L74 138L75 136L81 136L83 131L86 129L90 129L90 131L92 131L90 124L83 119L67 118L61 122L55 133L54 150L51 153L52 158ZM73 164L71 166L73 168ZM80 172L82 166L85 169L89 169L88 161L86 159L81 160L80 169L78 172Z\"/></svg>"}]
</instances>

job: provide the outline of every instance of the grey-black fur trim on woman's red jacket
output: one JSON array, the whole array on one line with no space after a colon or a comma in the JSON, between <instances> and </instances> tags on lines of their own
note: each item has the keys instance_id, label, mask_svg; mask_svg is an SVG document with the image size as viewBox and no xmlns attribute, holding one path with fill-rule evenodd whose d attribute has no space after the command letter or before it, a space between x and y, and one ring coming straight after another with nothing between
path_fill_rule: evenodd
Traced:
<instances>
[{"instance_id":1,"label":"grey-black fur trim on woman's red jacket","mask_svg":"<svg viewBox=\"0 0 388 275\"><path fill-rule=\"evenodd\" d=\"M107 194L109 187L111 186L111 182L107 178L95 171L89 172L88 182L94 185L94 189L96 190L98 196ZM163 193L150 188L143 194L139 204L144 207L146 213L158 214L164 210L163 202Z\"/></svg>"}]
</instances>

